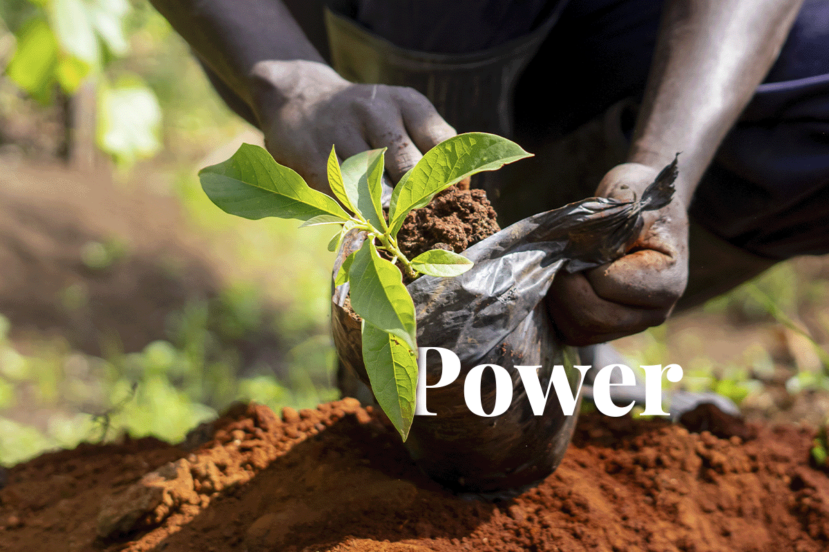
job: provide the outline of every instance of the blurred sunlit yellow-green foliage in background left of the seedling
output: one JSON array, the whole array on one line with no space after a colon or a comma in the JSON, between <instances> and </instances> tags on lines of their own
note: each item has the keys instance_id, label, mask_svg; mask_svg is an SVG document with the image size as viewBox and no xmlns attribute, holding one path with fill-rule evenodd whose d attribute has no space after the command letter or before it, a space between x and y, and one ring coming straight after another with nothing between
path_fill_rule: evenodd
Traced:
<instances>
[{"instance_id":1,"label":"blurred sunlit yellow-green foliage in background left of the seedling","mask_svg":"<svg viewBox=\"0 0 829 552\"><path fill-rule=\"evenodd\" d=\"M78 1L84 7L105 3ZM54 3L0 2L6 36L17 37L23 26L39 21L47 26L41 29L44 34L57 43L50 19ZM335 353L328 323L332 255L324 253L330 236L322 228L300 235L293 221L235 221L211 204L196 170L206 153L246 124L221 103L187 45L148 2L136 0L127 7L120 19L126 50L114 55L96 37L102 64L99 87L119 93L142 86L152 91L160 109L153 109L141 94L128 92L133 96L116 98L114 111L125 125L138 127L143 122L134 117L152 114L164 147L120 180L153 175L148 181L180 199L187 232L203 238L211 256L222 259L224 288L216 297L191 300L172 312L164 340L124 353L118 336L111 336L102 344L101 358L73 350L60 337L27 339L21 348L7 338L7 319L0 314L2 465L46 449L116 439L124 433L179 441L232 401L301 409L338 396L332 388ZM0 25L0 42L2 35ZM19 39L12 44L17 49L10 55L18 55ZM0 66L3 61L0 44ZM0 78L11 76L7 72ZM49 95L42 98L54 102L61 83L55 74L50 79L44 84ZM136 109L136 99L143 108ZM107 137L107 128L104 121L99 138ZM107 139L114 147L132 148L128 155L134 156L151 142L147 135L125 138L115 133ZM129 254L118 238L103 238L85 244L80 262L89 271L104 271ZM169 271L181 270L174 258L159 262ZM66 310L79 311L89 301L87 295L85 286L73 283L56 300Z\"/></svg>"}]
</instances>

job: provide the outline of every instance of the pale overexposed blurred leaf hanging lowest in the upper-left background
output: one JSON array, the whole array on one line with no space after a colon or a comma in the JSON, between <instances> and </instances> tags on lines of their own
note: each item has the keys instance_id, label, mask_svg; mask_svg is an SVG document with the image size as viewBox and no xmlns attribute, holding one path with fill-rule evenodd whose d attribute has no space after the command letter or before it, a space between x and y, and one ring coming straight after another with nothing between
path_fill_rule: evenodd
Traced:
<instances>
[{"instance_id":1,"label":"pale overexposed blurred leaf hanging lowest in the upper-left background","mask_svg":"<svg viewBox=\"0 0 829 552\"><path fill-rule=\"evenodd\" d=\"M138 80L99 87L98 145L119 161L152 156L161 149L161 107Z\"/></svg>"}]
</instances>

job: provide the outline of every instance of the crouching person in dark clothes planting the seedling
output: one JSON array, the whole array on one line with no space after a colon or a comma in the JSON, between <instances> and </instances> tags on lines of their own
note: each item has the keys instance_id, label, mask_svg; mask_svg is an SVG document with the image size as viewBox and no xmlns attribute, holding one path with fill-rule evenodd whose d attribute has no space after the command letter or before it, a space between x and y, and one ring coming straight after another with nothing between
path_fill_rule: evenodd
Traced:
<instances>
[{"instance_id":1,"label":"crouching person in dark clothes planting the seedling","mask_svg":"<svg viewBox=\"0 0 829 552\"><path fill-rule=\"evenodd\" d=\"M822 0L151 2L318 190L332 144L342 158L387 147L395 182L456 129L497 132L536 153L482 181L516 220L638 196L681 152L674 200L628 254L556 277L568 343L638 333L829 251Z\"/></svg>"}]
</instances>

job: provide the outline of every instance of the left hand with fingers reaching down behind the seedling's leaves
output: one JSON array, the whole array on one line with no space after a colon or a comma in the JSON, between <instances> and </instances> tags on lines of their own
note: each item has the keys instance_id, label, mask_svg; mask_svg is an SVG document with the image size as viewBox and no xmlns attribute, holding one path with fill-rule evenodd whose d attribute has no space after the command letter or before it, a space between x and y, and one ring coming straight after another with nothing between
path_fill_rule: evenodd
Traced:
<instances>
[{"instance_id":1,"label":"left hand with fingers reaching down behind the seedling's leaves","mask_svg":"<svg viewBox=\"0 0 829 552\"><path fill-rule=\"evenodd\" d=\"M329 194L332 144L341 161L387 147L385 169L396 183L426 151L456 134L414 89L353 84L322 63L259 62L252 79L265 147L308 185Z\"/></svg>"}]
</instances>

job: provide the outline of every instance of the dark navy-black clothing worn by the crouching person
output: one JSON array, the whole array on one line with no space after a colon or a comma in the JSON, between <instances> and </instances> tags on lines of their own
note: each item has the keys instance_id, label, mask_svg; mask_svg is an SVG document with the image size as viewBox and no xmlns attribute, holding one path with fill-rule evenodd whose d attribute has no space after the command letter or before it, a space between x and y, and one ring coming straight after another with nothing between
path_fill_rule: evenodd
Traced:
<instances>
[{"instance_id":1,"label":"dark navy-black clothing worn by the crouching person","mask_svg":"<svg viewBox=\"0 0 829 552\"><path fill-rule=\"evenodd\" d=\"M355 2L356 22L415 52L497 49L557 17L526 69L518 65L514 89L496 83L510 100L497 109L511 109L519 142L564 136L623 98L641 98L662 8L655 0L569 0L566 6L555 0ZM473 103L477 93L464 94ZM462 109L463 96L453 106ZM492 130L475 127L473 115L454 116L463 123L455 123L459 132ZM480 117L497 119L492 113ZM450 123L452 118L448 113ZM805 2L690 213L720 238L764 257L829 252L829 2Z\"/></svg>"}]
</instances>

